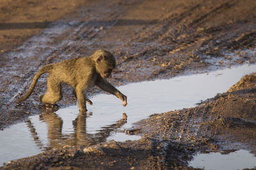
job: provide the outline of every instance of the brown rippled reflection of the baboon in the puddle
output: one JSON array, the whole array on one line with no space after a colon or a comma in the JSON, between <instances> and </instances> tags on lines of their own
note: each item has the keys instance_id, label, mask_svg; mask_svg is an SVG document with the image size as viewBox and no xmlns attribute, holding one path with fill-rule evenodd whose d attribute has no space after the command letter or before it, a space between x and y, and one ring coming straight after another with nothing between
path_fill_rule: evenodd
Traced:
<instances>
[{"instance_id":1,"label":"brown rippled reflection of the baboon in the puddle","mask_svg":"<svg viewBox=\"0 0 256 170\"><path fill-rule=\"evenodd\" d=\"M40 120L47 124L47 138L49 140L49 146L44 146L44 144L40 141L40 136L38 136L38 133L36 132L36 129L31 121L27 120L26 124L28 125L33 139L35 139L35 143L39 148L58 148L65 145L95 145L97 143L104 142L109 137L111 132L119 129L126 123L127 118L127 116L123 116L122 119L116 121L114 124L101 127L97 133L91 134L86 131L86 117L87 116L84 112L80 112L79 115L77 115L77 118L73 120L74 133L64 134L62 132L63 120L56 113L54 113L54 111L44 110L40 115Z\"/></svg>"}]
</instances>

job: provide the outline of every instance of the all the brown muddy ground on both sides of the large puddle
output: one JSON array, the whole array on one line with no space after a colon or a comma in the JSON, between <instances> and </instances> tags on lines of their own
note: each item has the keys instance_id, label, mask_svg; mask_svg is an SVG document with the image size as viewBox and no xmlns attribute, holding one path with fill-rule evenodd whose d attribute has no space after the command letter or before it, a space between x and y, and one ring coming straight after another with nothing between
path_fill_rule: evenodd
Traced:
<instances>
[{"instance_id":1,"label":"all the brown muddy ground on both sides of the large puddle","mask_svg":"<svg viewBox=\"0 0 256 170\"><path fill-rule=\"evenodd\" d=\"M46 76L15 104L39 67L99 48L116 57L116 86L255 63L255 8L254 0L1 1L0 128L40 113ZM227 152L237 142L256 153L255 81L252 74L196 108L141 120L139 141L53 149L0 169L186 169L196 152ZM60 107L76 103L70 87L63 92Z\"/></svg>"}]
</instances>

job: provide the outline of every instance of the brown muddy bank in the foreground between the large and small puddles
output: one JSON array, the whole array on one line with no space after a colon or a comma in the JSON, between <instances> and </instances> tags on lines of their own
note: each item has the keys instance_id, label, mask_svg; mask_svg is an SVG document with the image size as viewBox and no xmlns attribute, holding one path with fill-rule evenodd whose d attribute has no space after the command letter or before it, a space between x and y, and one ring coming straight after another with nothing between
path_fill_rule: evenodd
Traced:
<instances>
[{"instance_id":1,"label":"brown muddy bank in the foreground between the large and small puddles","mask_svg":"<svg viewBox=\"0 0 256 170\"><path fill-rule=\"evenodd\" d=\"M12 161L0 169L193 169L188 161L197 152L246 149L256 154L255 92L253 73L195 108L141 120L127 131L143 135L138 141L64 146Z\"/></svg>"}]
</instances>

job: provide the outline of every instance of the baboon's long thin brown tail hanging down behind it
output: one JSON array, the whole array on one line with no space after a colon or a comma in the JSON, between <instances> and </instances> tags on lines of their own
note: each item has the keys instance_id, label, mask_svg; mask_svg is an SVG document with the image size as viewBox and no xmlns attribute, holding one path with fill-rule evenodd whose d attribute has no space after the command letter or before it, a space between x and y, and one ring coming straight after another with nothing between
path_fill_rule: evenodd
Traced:
<instances>
[{"instance_id":1,"label":"baboon's long thin brown tail hanging down behind it","mask_svg":"<svg viewBox=\"0 0 256 170\"><path fill-rule=\"evenodd\" d=\"M22 101L28 99L28 97L31 95L31 93L33 92L35 86L36 86L36 82L38 81L38 78L40 78L40 76L44 73L47 73L49 71L51 71L53 68L53 64L49 64L46 65L44 67L41 67L39 69L39 71L35 74L33 81L28 89L28 92L26 92L26 94L24 94L23 96L19 97L19 99L17 99L17 103L21 103Z\"/></svg>"}]
</instances>

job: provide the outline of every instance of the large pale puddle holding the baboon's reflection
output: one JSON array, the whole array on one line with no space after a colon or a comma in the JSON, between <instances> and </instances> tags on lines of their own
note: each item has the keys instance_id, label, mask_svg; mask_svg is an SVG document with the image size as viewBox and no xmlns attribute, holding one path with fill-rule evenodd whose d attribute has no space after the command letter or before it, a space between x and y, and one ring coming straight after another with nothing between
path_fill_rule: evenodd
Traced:
<instances>
[{"instance_id":1,"label":"large pale puddle holding the baboon's reflection","mask_svg":"<svg viewBox=\"0 0 256 170\"><path fill-rule=\"evenodd\" d=\"M256 65L244 65L170 80L131 83L118 87L128 96L126 107L116 97L100 94L92 98L93 106L88 106L87 115L79 114L77 105L58 111L42 110L40 115L0 132L0 163L35 155L47 148L138 139L122 131L151 114L193 107L227 91L244 74L254 71ZM127 114L127 121L122 120L123 113Z\"/></svg>"}]
</instances>

